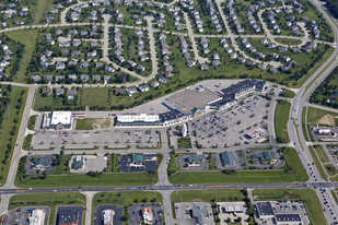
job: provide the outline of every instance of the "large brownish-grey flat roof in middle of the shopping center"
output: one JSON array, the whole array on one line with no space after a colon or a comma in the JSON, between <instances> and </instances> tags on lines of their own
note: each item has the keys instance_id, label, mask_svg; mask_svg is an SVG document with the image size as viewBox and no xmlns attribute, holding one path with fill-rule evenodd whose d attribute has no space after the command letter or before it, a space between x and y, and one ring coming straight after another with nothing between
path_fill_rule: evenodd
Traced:
<instances>
[{"instance_id":1,"label":"large brownish-grey flat roof in middle of the shopping center","mask_svg":"<svg viewBox=\"0 0 338 225\"><path fill-rule=\"evenodd\" d=\"M220 99L222 99L221 96L206 87L198 87L194 90L185 88L184 91L170 96L164 102L164 105L173 109L178 109L183 114L187 115L194 108L202 108Z\"/></svg>"}]
</instances>

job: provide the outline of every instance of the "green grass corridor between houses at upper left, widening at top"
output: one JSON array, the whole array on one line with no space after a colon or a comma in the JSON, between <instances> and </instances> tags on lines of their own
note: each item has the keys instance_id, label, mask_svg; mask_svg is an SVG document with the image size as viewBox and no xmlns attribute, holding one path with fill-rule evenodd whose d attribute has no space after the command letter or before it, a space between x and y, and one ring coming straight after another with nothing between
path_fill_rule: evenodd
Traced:
<instances>
[{"instance_id":1,"label":"green grass corridor between houses at upper left, widening at top","mask_svg":"<svg viewBox=\"0 0 338 225\"><path fill-rule=\"evenodd\" d=\"M18 29L5 33L9 37L20 42L25 46L25 54L21 60L20 70L18 71L14 81L24 83L26 69L32 60L32 55L35 49L35 39L37 29Z\"/></svg>"}]
</instances>

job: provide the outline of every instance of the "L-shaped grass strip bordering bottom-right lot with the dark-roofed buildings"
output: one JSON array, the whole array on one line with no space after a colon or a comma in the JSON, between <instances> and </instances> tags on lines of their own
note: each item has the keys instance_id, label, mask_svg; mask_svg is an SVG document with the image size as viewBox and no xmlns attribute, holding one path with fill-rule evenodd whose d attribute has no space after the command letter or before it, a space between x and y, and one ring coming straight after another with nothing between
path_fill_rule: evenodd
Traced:
<instances>
[{"instance_id":1,"label":"L-shaped grass strip bordering bottom-right lot with the dark-roofed buildings","mask_svg":"<svg viewBox=\"0 0 338 225\"><path fill-rule=\"evenodd\" d=\"M320 202L312 189L256 189L253 197L258 201L267 200L302 200L305 203L312 224L327 224Z\"/></svg>"}]
</instances>

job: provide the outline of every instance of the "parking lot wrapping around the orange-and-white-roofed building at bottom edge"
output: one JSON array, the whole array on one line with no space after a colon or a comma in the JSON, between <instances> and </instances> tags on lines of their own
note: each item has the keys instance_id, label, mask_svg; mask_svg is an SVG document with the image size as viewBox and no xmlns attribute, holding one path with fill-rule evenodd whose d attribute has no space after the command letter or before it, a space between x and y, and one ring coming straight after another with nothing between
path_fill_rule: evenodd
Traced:
<instances>
[{"instance_id":1,"label":"parking lot wrapping around the orange-and-white-roofed building at bottom edge","mask_svg":"<svg viewBox=\"0 0 338 225\"><path fill-rule=\"evenodd\" d=\"M162 205L159 204L132 204L128 208L129 213L129 225L139 225L142 224L142 208L151 208L153 212L153 225L162 225L163 224L163 209Z\"/></svg>"}]
</instances>

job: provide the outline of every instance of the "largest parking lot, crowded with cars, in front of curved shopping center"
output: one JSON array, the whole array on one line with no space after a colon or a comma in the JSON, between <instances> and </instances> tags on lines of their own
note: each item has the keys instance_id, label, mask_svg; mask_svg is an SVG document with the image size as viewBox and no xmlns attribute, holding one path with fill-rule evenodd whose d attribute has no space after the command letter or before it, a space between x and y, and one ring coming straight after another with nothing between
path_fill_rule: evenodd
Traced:
<instances>
[{"instance_id":1,"label":"largest parking lot, crowded with cars, in front of curved shopping center","mask_svg":"<svg viewBox=\"0 0 338 225\"><path fill-rule=\"evenodd\" d=\"M254 93L238 99L238 104L230 109L213 111L188 122L189 134L202 147L223 147L244 143L255 143L259 138L268 137L269 132L257 139L247 139L245 134L255 129L268 129L267 120L269 100ZM196 134L196 137L194 135Z\"/></svg>"}]
</instances>

